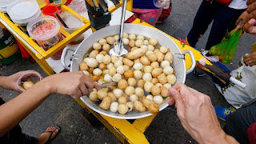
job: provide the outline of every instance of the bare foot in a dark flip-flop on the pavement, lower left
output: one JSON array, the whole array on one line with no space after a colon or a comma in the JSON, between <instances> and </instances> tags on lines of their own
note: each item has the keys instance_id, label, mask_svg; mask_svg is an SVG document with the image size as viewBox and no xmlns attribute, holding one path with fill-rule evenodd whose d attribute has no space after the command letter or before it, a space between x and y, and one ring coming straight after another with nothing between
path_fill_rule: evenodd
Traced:
<instances>
[{"instance_id":1,"label":"bare foot in a dark flip-flop on the pavement, lower left","mask_svg":"<svg viewBox=\"0 0 256 144\"><path fill-rule=\"evenodd\" d=\"M49 142L50 140L55 138L55 136L58 134L59 130L60 129L58 128L58 126L50 126L50 127L48 127L46 129L46 131L43 132L38 137L38 144L44 144L46 142Z\"/></svg>"}]
</instances>

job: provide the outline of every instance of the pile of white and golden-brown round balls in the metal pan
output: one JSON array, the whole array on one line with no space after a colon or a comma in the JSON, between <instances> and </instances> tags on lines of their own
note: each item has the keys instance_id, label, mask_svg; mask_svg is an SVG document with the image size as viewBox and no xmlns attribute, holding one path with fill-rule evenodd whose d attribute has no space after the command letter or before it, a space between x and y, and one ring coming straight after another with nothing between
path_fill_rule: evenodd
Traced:
<instances>
[{"instance_id":1,"label":"pile of white and golden-brown round balls in the metal pan","mask_svg":"<svg viewBox=\"0 0 256 144\"><path fill-rule=\"evenodd\" d=\"M155 38L142 35L122 35L130 52L123 57L110 56L118 35L95 42L89 57L80 63L80 70L98 82L118 82L114 88L93 90L89 98L99 101L103 110L126 114L132 110L158 113L159 106L167 97L168 88L175 82L173 55L166 46L159 46Z\"/></svg>"}]
</instances>

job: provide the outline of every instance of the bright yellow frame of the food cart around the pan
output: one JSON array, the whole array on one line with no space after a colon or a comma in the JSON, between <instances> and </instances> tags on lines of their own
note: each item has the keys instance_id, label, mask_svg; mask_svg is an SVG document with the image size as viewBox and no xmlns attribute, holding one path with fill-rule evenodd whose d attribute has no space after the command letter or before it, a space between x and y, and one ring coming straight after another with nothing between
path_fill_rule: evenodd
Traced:
<instances>
[{"instance_id":1,"label":"bright yellow frame of the food cart around the pan","mask_svg":"<svg viewBox=\"0 0 256 144\"><path fill-rule=\"evenodd\" d=\"M128 2L129 4L127 4L127 10L131 10L131 1ZM117 10L119 6L111 7L109 9L110 12ZM74 10L71 10L67 6L62 6L62 10L75 13ZM73 34L68 34L65 30L61 29L62 34L66 38L64 38L56 46L50 48L50 50L45 51L42 50L42 48L38 46L38 44L35 43L32 38L28 37L28 35L26 35L22 31L20 26L11 22L10 18L6 17L5 14L0 13L0 23L6 26L6 28L10 30L12 34L14 34L14 36L18 39L19 42L22 43L22 46L24 46L24 48L28 51L32 58L34 58L36 62L38 62L38 65L42 67L46 74L49 75L54 74L54 70L52 70L52 68L46 62L46 58L50 58L52 55L56 54L58 50L62 50L69 42L72 42L75 38L77 38L78 35L84 33L86 30L89 30L90 21L86 18L83 18L83 22L85 23L85 25L82 26L80 29L76 30ZM132 23L150 26L146 22L141 22L139 19L134 20L134 22ZM172 38L170 35L168 36ZM202 58L202 54L200 54L198 50L194 50L194 48L190 46L182 47L182 44L177 39L172 39L182 51L192 50L192 52L194 53L194 57L197 61ZM185 58L186 69L189 69L191 66L189 55L186 55ZM210 62L207 63L209 64ZM154 120L156 114L151 115L150 117L136 119L134 122L131 123L124 119L110 118L106 117L105 115L98 114L94 110L91 110L88 106L86 106L80 99L75 99L75 101L78 102L78 104L82 106L88 113L94 114L94 116L98 118L98 120L102 122L102 124L105 125L122 143L150 143L144 135L144 132L146 131L146 128L150 126L150 123Z\"/></svg>"}]
</instances>

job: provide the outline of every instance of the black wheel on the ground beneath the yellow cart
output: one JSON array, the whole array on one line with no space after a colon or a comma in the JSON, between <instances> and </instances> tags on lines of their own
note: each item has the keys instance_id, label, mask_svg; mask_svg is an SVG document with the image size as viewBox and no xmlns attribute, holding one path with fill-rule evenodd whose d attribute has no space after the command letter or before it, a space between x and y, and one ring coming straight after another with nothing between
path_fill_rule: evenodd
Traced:
<instances>
[{"instance_id":1,"label":"black wheel on the ground beneath the yellow cart","mask_svg":"<svg viewBox=\"0 0 256 144\"><path fill-rule=\"evenodd\" d=\"M88 113L87 110L80 110L79 114L91 126L94 126L96 128L101 128L103 126L102 122L100 122L98 118L94 116L94 114Z\"/></svg>"}]
</instances>

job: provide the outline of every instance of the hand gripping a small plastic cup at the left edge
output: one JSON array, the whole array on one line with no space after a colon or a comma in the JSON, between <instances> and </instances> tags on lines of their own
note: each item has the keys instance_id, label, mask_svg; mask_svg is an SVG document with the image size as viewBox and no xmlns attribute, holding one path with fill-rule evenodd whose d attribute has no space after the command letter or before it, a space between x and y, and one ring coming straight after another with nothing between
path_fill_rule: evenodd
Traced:
<instances>
[{"instance_id":1,"label":"hand gripping a small plastic cup at the left edge","mask_svg":"<svg viewBox=\"0 0 256 144\"><path fill-rule=\"evenodd\" d=\"M20 71L16 74L12 74L10 76L7 76L7 77L4 78L5 85L3 87L5 89L8 89L8 90L16 90L16 91L22 93L22 90L17 85L18 78L20 78L22 75L25 74L24 77L22 77L22 81L25 82L26 80L30 79L30 77L35 76L35 73L40 75L35 70L25 70L25 71ZM42 76L40 75L40 77L42 77ZM21 82L19 84L21 84Z\"/></svg>"}]
</instances>

